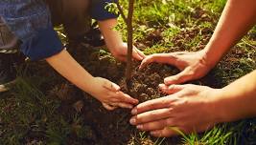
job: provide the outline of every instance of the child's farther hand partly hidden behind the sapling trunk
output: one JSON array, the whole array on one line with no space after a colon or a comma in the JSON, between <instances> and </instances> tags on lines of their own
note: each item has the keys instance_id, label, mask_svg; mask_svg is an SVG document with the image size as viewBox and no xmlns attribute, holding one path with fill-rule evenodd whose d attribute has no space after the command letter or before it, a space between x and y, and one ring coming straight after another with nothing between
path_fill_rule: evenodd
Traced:
<instances>
[{"instance_id":1,"label":"child's farther hand partly hidden behind the sapling trunk","mask_svg":"<svg viewBox=\"0 0 256 145\"><path fill-rule=\"evenodd\" d=\"M121 46L117 48L109 49L109 51L114 55L115 58L119 59L120 61L127 61L127 43L123 43ZM146 55L133 46L132 57L137 60L143 60L146 57Z\"/></svg>"}]
</instances>

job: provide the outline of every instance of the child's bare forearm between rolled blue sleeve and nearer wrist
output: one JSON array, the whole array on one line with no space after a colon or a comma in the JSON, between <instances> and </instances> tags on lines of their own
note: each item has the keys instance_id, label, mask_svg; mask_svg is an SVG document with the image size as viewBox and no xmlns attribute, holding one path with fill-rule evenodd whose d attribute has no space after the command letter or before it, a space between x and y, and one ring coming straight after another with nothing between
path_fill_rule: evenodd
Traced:
<instances>
[{"instance_id":1,"label":"child's bare forearm between rolled blue sleeve and nearer wrist","mask_svg":"<svg viewBox=\"0 0 256 145\"><path fill-rule=\"evenodd\" d=\"M87 73L81 65L67 52L62 51L49 57L46 61L62 76L75 84L84 92L89 92L93 76Z\"/></svg>"}]
</instances>

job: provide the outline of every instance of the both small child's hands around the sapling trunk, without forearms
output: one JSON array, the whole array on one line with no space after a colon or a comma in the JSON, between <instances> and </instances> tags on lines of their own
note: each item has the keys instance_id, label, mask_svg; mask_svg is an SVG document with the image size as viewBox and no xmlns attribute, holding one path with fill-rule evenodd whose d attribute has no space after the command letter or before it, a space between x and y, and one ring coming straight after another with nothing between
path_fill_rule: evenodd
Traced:
<instances>
[{"instance_id":1,"label":"both small child's hands around the sapling trunk, without forearms","mask_svg":"<svg viewBox=\"0 0 256 145\"><path fill-rule=\"evenodd\" d=\"M109 51L116 59L120 61L127 60L128 45L126 43L123 43L117 48L111 48ZM146 55L134 47L132 57L141 61ZM118 107L132 109L134 105L139 103L137 99L121 92L117 84L105 78L95 77L92 85L96 87L90 94L101 101L106 110L112 111Z\"/></svg>"}]
</instances>

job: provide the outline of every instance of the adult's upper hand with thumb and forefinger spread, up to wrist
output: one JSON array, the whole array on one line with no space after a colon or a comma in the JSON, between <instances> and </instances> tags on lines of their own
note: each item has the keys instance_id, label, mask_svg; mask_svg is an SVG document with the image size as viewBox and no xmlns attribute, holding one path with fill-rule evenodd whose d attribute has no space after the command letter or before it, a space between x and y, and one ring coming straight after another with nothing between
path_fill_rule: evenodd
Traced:
<instances>
[{"instance_id":1,"label":"adult's upper hand with thumb and forefinger spread, up to wrist","mask_svg":"<svg viewBox=\"0 0 256 145\"><path fill-rule=\"evenodd\" d=\"M156 53L147 56L141 63L140 69L152 62L166 63L178 68L181 73L165 78L166 85L181 84L195 80L208 73L215 64L210 64L203 51Z\"/></svg>"}]
</instances>

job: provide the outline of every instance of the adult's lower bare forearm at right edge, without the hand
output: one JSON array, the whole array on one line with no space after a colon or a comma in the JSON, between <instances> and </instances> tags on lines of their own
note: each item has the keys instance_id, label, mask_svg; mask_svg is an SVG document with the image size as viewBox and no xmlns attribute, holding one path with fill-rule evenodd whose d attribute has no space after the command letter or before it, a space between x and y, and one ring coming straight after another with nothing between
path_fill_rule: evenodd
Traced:
<instances>
[{"instance_id":1,"label":"adult's lower bare forearm at right edge, without the hand","mask_svg":"<svg viewBox=\"0 0 256 145\"><path fill-rule=\"evenodd\" d=\"M224 87L217 95L220 122L256 116L256 71Z\"/></svg>"}]
</instances>

